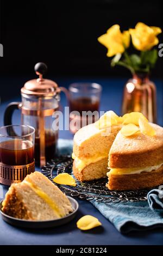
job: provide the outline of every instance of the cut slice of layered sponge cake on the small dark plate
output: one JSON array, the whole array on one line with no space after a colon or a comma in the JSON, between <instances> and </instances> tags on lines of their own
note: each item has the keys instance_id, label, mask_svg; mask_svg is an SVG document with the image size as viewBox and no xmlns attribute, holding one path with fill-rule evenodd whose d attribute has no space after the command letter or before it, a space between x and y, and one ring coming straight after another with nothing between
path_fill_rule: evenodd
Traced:
<instances>
[{"instance_id":1,"label":"cut slice of layered sponge cake on the small dark plate","mask_svg":"<svg viewBox=\"0 0 163 256\"><path fill-rule=\"evenodd\" d=\"M73 211L68 198L40 172L12 184L3 201L2 211L25 220L55 220Z\"/></svg>"}]
</instances>

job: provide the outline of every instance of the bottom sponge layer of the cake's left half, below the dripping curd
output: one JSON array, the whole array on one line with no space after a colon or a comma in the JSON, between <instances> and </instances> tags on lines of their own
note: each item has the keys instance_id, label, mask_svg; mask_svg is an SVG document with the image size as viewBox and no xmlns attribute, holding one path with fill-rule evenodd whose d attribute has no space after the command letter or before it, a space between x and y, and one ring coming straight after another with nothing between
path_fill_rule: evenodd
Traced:
<instances>
[{"instance_id":1,"label":"bottom sponge layer of the cake's left half, below the dripping curd","mask_svg":"<svg viewBox=\"0 0 163 256\"><path fill-rule=\"evenodd\" d=\"M83 170L79 171L73 161L73 174L79 181L97 180L106 177L108 172L108 157L99 160L98 162L91 163Z\"/></svg>"}]
</instances>

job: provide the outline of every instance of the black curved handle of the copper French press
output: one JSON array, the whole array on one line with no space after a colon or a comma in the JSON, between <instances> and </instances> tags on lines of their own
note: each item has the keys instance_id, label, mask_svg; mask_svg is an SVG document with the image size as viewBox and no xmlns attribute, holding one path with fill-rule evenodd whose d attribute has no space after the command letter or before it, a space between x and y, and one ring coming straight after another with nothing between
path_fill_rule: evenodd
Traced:
<instances>
[{"instance_id":1,"label":"black curved handle of the copper French press","mask_svg":"<svg viewBox=\"0 0 163 256\"><path fill-rule=\"evenodd\" d=\"M15 109L20 109L21 102L11 102L7 106L4 112L4 125L11 125L12 124L12 114L14 113Z\"/></svg>"}]
</instances>

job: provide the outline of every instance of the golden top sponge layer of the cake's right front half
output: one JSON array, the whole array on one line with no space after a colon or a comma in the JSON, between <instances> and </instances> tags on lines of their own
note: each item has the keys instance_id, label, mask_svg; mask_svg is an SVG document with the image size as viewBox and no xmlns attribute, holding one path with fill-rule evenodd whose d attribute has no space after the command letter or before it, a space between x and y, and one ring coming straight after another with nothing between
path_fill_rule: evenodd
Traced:
<instances>
[{"instance_id":1,"label":"golden top sponge layer of the cake's right front half","mask_svg":"<svg viewBox=\"0 0 163 256\"><path fill-rule=\"evenodd\" d=\"M163 128L150 125L156 131L155 136L138 132L126 137L118 132L109 152L109 167L134 168L163 162Z\"/></svg>"}]
</instances>

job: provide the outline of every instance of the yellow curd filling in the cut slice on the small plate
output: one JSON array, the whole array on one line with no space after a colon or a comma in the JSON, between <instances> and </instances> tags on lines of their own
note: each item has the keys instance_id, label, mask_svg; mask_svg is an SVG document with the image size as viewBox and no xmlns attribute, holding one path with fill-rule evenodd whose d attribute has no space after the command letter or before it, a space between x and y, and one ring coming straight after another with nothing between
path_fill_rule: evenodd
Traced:
<instances>
[{"instance_id":1,"label":"yellow curd filling in the cut slice on the small plate","mask_svg":"<svg viewBox=\"0 0 163 256\"><path fill-rule=\"evenodd\" d=\"M61 218L64 216L64 214L59 209L58 205L45 193L43 192L39 187L34 185L32 182L24 180L24 182L32 188L32 190L37 194L37 196L41 197L45 202L53 209L55 214L58 218Z\"/></svg>"}]
</instances>

